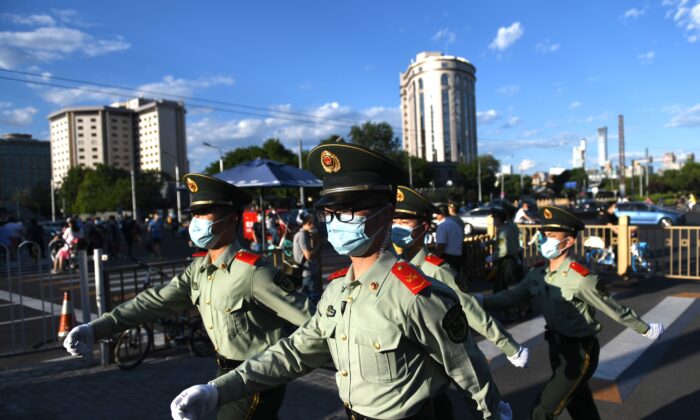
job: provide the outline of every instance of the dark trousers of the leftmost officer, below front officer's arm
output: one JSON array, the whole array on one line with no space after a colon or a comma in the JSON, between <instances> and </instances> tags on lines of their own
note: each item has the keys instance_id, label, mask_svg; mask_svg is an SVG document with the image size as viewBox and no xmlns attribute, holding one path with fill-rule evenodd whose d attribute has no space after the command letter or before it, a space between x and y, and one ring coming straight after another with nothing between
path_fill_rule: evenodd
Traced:
<instances>
[{"instance_id":1,"label":"dark trousers of the leftmost officer, below front officer's arm","mask_svg":"<svg viewBox=\"0 0 700 420\"><path fill-rule=\"evenodd\" d=\"M233 369L219 368L216 377L222 376ZM284 400L286 385L257 392L247 398L243 398L219 406L218 420L268 420L277 419L277 412Z\"/></svg>"}]
</instances>

